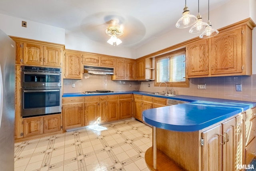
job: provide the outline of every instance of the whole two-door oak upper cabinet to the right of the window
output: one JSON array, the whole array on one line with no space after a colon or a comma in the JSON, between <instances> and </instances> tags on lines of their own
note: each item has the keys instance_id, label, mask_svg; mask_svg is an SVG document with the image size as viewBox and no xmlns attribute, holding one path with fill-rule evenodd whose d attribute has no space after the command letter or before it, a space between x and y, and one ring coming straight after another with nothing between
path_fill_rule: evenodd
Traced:
<instances>
[{"instance_id":1,"label":"whole two-door oak upper cabinet to the right of the window","mask_svg":"<svg viewBox=\"0 0 256 171\"><path fill-rule=\"evenodd\" d=\"M220 29L212 38L188 44L187 77L251 75L255 26L248 18Z\"/></svg>"}]
</instances>

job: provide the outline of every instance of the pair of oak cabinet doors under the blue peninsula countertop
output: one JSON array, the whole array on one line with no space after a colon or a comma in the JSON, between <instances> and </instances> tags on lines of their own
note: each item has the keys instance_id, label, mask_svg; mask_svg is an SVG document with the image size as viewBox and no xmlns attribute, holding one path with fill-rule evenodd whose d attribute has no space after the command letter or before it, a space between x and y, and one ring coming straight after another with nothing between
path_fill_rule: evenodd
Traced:
<instances>
[{"instance_id":1,"label":"pair of oak cabinet doors under the blue peninsula countertop","mask_svg":"<svg viewBox=\"0 0 256 171\"><path fill-rule=\"evenodd\" d=\"M232 118L212 129L204 131L202 138L202 170L235 170L236 119Z\"/></svg>"}]
</instances>

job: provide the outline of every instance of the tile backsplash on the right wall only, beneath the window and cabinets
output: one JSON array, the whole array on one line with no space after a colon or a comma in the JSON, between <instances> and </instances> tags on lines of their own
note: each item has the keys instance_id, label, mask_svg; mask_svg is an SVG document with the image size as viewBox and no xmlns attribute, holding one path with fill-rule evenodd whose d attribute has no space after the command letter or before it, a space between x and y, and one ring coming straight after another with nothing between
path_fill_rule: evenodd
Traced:
<instances>
[{"instance_id":1,"label":"tile backsplash on the right wall only, beneath the window and cabinets","mask_svg":"<svg viewBox=\"0 0 256 171\"><path fill-rule=\"evenodd\" d=\"M197 84L206 84L206 89L197 89ZM236 84L242 84L242 91L236 91ZM141 82L138 89L162 92L166 87L155 87L154 82ZM174 89L177 95L256 101L256 74L252 76L190 78L189 87L168 87L168 89Z\"/></svg>"}]
</instances>

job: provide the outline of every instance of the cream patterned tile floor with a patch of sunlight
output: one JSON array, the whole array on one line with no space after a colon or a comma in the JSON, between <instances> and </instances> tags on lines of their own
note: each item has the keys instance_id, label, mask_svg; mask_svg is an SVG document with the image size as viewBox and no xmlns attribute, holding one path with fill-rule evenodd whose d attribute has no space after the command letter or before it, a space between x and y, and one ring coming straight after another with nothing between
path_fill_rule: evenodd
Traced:
<instances>
[{"instance_id":1,"label":"cream patterned tile floor with a patch of sunlight","mask_svg":"<svg viewBox=\"0 0 256 171\"><path fill-rule=\"evenodd\" d=\"M15 143L14 171L149 171L152 128L135 119Z\"/></svg>"}]
</instances>

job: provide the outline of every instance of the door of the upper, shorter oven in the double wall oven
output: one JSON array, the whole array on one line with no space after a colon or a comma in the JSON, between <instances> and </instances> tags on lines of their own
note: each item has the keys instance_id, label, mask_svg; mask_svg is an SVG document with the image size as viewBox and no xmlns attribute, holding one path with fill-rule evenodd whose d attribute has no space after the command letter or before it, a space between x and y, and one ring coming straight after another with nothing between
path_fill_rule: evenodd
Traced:
<instances>
[{"instance_id":1,"label":"door of the upper, shorter oven in the double wall oven","mask_svg":"<svg viewBox=\"0 0 256 171\"><path fill-rule=\"evenodd\" d=\"M61 73L59 72L22 72L22 87L60 87Z\"/></svg>"}]
</instances>

